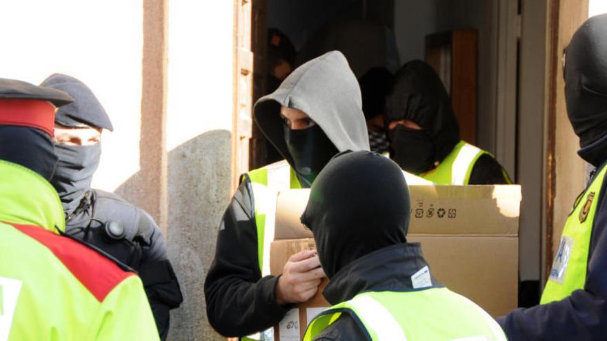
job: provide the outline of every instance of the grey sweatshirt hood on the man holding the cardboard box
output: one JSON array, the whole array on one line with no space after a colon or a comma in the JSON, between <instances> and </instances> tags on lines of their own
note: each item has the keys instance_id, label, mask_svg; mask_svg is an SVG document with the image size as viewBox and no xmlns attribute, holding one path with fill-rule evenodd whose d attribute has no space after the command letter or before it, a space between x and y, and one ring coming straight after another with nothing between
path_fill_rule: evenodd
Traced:
<instances>
[{"instance_id":1,"label":"grey sweatshirt hood on the man holding the cardboard box","mask_svg":"<svg viewBox=\"0 0 607 341\"><path fill-rule=\"evenodd\" d=\"M319 125L339 152L369 150L361 92L348 61L332 51L295 69L275 92L255 103L255 122L268 141L295 168L288 151L281 106L301 110Z\"/></svg>"}]
</instances>

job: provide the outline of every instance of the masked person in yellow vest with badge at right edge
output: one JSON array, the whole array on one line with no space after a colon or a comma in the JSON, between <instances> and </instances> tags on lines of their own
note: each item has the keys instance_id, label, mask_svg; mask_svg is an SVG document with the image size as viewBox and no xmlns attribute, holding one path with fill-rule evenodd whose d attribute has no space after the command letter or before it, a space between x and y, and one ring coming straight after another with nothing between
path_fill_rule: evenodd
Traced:
<instances>
[{"instance_id":1,"label":"masked person in yellow vest with badge at right edge","mask_svg":"<svg viewBox=\"0 0 607 341\"><path fill-rule=\"evenodd\" d=\"M605 340L607 335L607 14L566 50L565 99L581 158L597 167L573 204L540 305L499 318L508 340Z\"/></svg>"}]
</instances>

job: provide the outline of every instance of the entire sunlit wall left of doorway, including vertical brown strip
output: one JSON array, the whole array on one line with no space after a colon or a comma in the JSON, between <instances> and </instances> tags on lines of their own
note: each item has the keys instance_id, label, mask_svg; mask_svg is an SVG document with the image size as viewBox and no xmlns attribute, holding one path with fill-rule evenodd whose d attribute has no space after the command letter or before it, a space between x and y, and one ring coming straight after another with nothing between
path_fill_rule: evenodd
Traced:
<instances>
[{"instance_id":1,"label":"entire sunlit wall left of doorway, including vertical brown strip","mask_svg":"<svg viewBox=\"0 0 607 341\"><path fill-rule=\"evenodd\" d=\"M225 340L203 282L230 199L232 1L3 1L0 76L76 76L106 107L94 187L150 211L168 231L184 302L170 340ZM8 34L10 32L10 34Z\"/></svg>"}]
</instances>

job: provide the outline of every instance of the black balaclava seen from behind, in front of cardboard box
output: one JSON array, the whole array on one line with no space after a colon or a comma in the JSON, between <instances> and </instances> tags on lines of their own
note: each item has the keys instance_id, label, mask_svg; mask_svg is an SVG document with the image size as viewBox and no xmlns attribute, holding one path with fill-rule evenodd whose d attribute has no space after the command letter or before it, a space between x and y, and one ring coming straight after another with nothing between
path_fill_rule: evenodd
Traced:
<instances>
[{"instance_id":1,"label":"black balaclava seen from behind, in front of cardboard box","mask_svg":"<svg viewBox=\"0 0 607 341\"><path fill-rule=\"evenodd\" d=\"M406 242L410 198L399 166L373 152L341 152L310 190L301 223L312 229L328 278L372 251Z\"/></svg>"}]
</instances>

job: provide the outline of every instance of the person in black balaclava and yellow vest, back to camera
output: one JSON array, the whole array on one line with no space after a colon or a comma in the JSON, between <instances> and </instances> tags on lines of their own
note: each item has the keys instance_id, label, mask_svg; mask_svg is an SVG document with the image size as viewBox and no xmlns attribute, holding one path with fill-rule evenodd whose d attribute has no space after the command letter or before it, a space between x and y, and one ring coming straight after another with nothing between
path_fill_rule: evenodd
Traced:
<instances>
[{"instance_id":1,"label":"person in black balaclava and yellow vest, back to camera","mask_svg":"<svg viewBox=\"0 0 607 341\"><path fill-rule=\"evenodd\" d=\"M340 153L312 184L301 223L312 230L333 305L312 340L503 340L477 304L441 285L408 243L410 198L401 169L371 152Z\"/></svg>"}]
</instances>

